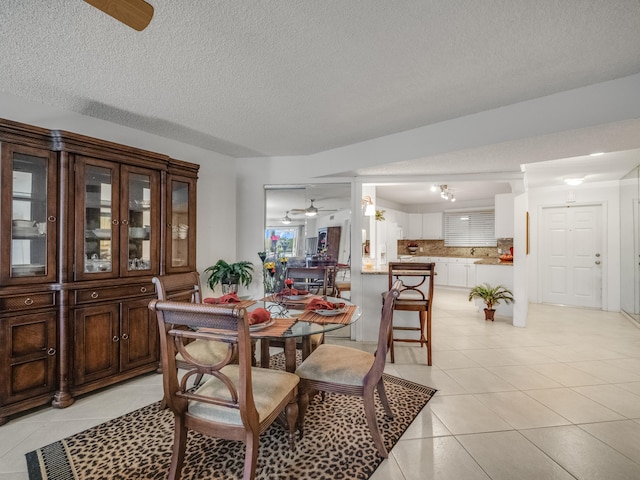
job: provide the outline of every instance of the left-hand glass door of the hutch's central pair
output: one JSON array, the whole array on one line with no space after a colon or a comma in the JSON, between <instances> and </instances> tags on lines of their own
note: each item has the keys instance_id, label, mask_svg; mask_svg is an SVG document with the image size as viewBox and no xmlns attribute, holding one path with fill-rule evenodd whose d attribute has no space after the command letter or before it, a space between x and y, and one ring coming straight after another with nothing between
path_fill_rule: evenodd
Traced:
<instances>
[{"instance_id":1,"label":"left-hand glass door of the hutch's central pair","mask_svg":"<svg viewBox=\"0 0 640 480\"><path fill-rule=\"evenodd\" d=\"M79 157L76 163L76 279L117 276L118 165ZM115 262L115 263L114 263Z\"/></svg>"}]
</instances>

